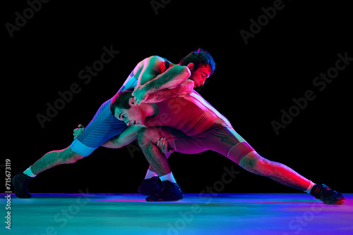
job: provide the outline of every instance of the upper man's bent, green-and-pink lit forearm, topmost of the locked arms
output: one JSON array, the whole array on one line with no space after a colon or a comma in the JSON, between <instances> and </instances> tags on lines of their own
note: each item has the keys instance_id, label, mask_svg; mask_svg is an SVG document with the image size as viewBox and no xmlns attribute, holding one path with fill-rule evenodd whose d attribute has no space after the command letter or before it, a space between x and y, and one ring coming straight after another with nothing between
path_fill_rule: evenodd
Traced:
<instances>
[{"instance_id":1,"label":"upper man's bent, green-and-pink lit forearm, topmost of the locked arms","mask_svg":"<svg viewBox=\"0 0 353 235\"><path fill-rule=\"evenodd\" d=\"M167 89L171 87L177 87L183 82L185 82L191 75L189 68L186 66L175 65L172 68L169 68L166 72L158 75L150 82L144 84L145 94L152 94L156 91L162 89Z\"/></svg>"}]
</instances>

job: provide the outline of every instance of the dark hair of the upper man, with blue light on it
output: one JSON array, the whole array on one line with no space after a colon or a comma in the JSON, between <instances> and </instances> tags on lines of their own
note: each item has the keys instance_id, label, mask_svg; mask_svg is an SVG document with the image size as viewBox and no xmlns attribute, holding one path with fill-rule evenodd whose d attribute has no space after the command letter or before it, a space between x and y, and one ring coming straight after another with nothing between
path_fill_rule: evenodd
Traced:
<instances>
[{"instance_id":1,"label":"dark hair of the upper man, with blue light on it","mask_svg":"<svg viewBox=\"0 0 353 235\"><path fill-rule=\"evenodd\" d=\"M213 61L212 56L208 51L204 51L203 49L199 48L196 51L192 51L189 55L185 56L181 59L180 65L186 66L189 63L193 63L193 68L197 70L203 65L210 65L211 68L211 75L215 72L215 61Z\"/></svg>"}]
</instances>

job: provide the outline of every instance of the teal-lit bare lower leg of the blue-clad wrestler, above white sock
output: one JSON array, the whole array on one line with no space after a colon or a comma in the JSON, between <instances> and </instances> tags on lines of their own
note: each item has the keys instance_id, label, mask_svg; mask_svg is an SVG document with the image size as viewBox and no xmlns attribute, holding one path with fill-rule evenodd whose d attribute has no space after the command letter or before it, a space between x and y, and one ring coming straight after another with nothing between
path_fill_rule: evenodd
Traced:
<instances>
[{"instance_id":1,"label":"teal-lit bare lower leg of the blue-clad wrestler, above white sock","mask_svg":"<svg viewBox=\"0 0 353 235\"><path fill-rule=\"evenodd\" d=\"M84 157L73 152L70 147L67 147L44 154L42 158L32 165L31 170L33 174L39 174L40 172L44 172L44 170L55 167L56 165L76 163L77 160L82 158Z\"/></svg>"}]
</instances>

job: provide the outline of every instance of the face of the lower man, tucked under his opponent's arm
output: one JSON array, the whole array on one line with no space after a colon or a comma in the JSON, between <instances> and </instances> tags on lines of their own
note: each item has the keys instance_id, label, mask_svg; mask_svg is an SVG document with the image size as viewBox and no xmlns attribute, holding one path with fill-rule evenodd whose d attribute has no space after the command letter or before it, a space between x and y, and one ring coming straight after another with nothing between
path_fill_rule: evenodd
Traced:
<instances>
[{"instance_id":1,"label":"face of the lower man, tucked under his opponent's arm","mask_svg":"<svg viewBox=\"0 0 353 235\"><path fill-rule=\"evenodd\" d=\"M129 106L131 108L116 108L115 109L115 118L118 120L124 121L127 126L129 125L143 125L145 123L145 115L140 106L135 106L133 99L129 99Z\"/></svg>"}]
</instances>

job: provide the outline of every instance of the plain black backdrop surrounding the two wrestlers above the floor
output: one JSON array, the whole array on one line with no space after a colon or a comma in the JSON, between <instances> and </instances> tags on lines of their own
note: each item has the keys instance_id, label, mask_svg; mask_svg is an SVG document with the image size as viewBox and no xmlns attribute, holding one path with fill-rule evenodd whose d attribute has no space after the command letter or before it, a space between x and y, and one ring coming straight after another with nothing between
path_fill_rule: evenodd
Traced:
<instances>
[{"instance_id":1,"label":"plain black backdrop surrounding the two wrestlers above the floor","mask_svg":"<svg viewBox=\"0 0 353 235\"><path fill-rule=\"evenodd\" d=\"M225 115L234 129L263 157L292 167L313 182L352 192L352 64L323 91L313 86L321 72L335 66L337 53L353 57L352 12L348 3L283 1L284 8L245 44L240 30L250 31L251 18L274 1L164 1L157 14L150 1L49 1L10 37L5 24L15 24L26 1L4 8L3 127L4 159L12 174L25 170L44 153L66 148L72 130L88 125L97 108L121 87L143 58L158 55L173 63L199 47L209 51L215 74L199 93ZM4 11L3 10L3 11ZM100 59L103 46L120 51L92 81L78 72ZM40 126L46 103L59 99L78 83L80 92ZM292 99L315 92L300 114L275 134L281 110ZM148 163L134 144L98 148L71 165L38 175L32 193L137 192ZM5 160L3 160L5 161ZM4 163L0 163L3 164ZM169 159L184 192L213 186L224 167L241 171L222 192L298 192L241 169L214 152L174 153Z\"/></svg>"}]
</instances>

